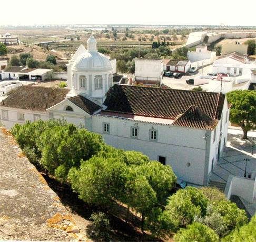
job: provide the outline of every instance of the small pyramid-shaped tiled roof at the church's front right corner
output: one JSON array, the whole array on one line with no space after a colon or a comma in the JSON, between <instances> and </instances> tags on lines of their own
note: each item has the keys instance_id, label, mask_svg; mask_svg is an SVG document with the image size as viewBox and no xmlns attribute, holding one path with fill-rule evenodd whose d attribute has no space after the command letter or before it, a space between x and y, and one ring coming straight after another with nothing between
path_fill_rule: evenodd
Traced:
<instances>
[{"instance_id":1,"label":"small pyramid-shaped tiled roof at the church's front right corner","mask_svg":"<svg viewBox=\"0 0 256 242\"><path fill-rule=\"evenodd\" d=\"M183 114L178 115L172 125L212 130L217 123L217 120L203 113L199 107L191 106Z\"/></svg>"}]
</instances>

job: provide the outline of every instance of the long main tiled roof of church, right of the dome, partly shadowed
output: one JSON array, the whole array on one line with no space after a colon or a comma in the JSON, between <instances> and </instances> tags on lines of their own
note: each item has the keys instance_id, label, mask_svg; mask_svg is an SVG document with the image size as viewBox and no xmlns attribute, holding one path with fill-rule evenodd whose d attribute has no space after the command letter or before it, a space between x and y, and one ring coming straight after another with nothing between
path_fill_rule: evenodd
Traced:
<instances>
[{"instance_id":1,"label":"long main tiled roof of church, right of the dome, partly shadowed","mask_svg":"<svg viewBox=\"0 0 256 242\"><path fill-rule=\"evenodd\" d=\"M109 112L175 119L189 107L198 106L213 119L220 119L225 95L166 88L114 85L106 94Z\"/></svg>"}]
</instances>

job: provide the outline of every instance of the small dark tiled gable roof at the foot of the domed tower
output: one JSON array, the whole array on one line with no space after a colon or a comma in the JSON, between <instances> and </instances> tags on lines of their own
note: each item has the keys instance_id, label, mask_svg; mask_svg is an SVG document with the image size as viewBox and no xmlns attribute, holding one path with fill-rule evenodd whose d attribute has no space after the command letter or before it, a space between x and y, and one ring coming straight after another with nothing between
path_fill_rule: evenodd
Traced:
<instances>
[{"instance_id":1,"label":"small dark tiled gable roof at the foot of the domed tower","mask_svg":"<svg viewBox=\"0 0 256 242\"><path fill-rule=\"evenodd\" d=\"M97 105L96 103L92 102L91 100L81 95L70 97L67 99L70 100L76 106L83 109L88 114L93 114L94 112L96 112L101 108L101 106Z\"/></svg>"}]
</instances>

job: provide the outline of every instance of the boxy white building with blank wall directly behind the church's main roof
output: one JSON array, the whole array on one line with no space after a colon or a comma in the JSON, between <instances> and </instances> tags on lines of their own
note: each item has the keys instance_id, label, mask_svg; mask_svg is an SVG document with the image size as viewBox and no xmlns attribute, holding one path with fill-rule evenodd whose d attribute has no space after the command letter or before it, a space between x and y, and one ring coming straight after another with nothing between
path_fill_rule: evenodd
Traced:
<instances>
[{"instance_id":1,"label":"boxy white building with blank wall directly behind the church's main roof","mask_svg":"<svg viewBox=\"0 0 256 242\"><path fill-rule=\"evenodd\" d=\"M163 60L162 59L135 59L135 76L137 83L162 85Z\"/></svg>"}]
</instances>

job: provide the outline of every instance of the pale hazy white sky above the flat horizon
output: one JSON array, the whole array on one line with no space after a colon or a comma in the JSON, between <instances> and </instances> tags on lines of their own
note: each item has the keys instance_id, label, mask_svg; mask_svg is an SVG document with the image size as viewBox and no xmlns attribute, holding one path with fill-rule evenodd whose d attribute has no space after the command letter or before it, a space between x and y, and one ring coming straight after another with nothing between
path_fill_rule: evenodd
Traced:
<instances>
[{"instance_id":1,"label":"pale hazy white sky above the flat horizon","mask_svg":"<svg viewBox=\"0 0 256 242\"><path fill-rule=\"evenodd\" d=\"M0 25L256 25L256 0L1 0L0 9Z\"/></svg>"}]
</instances>

